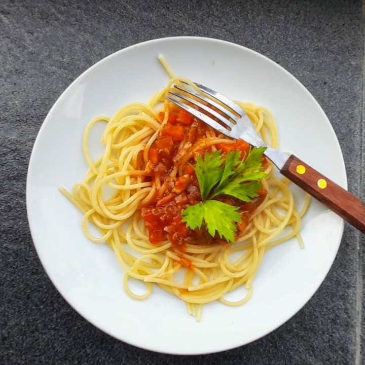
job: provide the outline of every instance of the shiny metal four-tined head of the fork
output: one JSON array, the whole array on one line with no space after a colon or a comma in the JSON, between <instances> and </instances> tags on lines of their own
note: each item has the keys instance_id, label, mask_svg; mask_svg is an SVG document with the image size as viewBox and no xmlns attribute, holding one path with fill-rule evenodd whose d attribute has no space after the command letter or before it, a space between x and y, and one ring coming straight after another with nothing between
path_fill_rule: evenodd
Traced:
<instances>
[{"instance_id":1,"label":"shiny metal four-tined head of the fork","mask_svg":"<svg viewBox=\"0 0 365 365\"><path fill-rule=\"evenodd\" d=\"M267 147L245 111L231 99L206 86L180 81L172 86L166 98L228 137L242 138L256 147Z\"/></svg>"}]
</instances>

